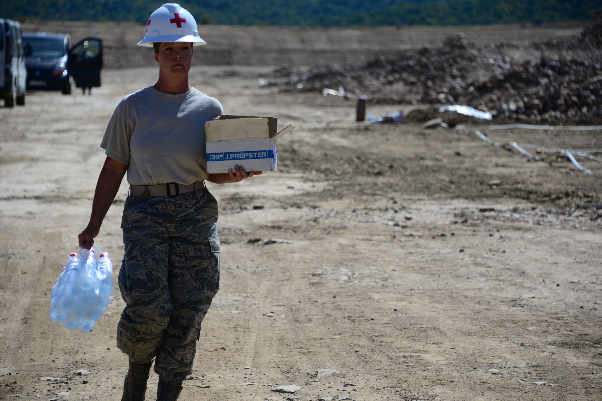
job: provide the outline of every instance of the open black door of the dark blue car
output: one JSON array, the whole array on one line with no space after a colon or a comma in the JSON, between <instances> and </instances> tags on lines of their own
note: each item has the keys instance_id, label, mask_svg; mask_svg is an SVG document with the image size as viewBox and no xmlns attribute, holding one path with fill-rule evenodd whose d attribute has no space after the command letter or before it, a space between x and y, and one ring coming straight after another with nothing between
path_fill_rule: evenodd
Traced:
<instances>
[{"instance_id":1,"label":"open black door of the dark blue car","mask_svg":"<svg viewBox=\"0 0 602 401\"><path fill-rule=\"evenodd\" d=\"M69 49L67 71L78 88L101 86L102 39L87 37Z\"/></svg>"}]
</instances>

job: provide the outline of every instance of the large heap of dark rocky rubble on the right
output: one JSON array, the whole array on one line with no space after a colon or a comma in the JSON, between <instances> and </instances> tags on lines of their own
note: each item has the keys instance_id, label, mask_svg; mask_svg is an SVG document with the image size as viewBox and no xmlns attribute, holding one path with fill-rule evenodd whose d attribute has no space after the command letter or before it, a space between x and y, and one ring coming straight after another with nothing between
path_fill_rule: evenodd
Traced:
<instances>
[{"instance_id":1,"label":"large heap of dark rocky rubble on the right","mask_svg":"<svg viewBox=\"0 0 602 401\"><path fill-rule=\"evenodd\" d=\"M343 86L371 103L466 104L496 119L602 121L602 17L565 40L479 45L464 35L362 65L280 67L283 90ZM302 85L299 85L302 84Z\"/></svg>"}]
</instances>

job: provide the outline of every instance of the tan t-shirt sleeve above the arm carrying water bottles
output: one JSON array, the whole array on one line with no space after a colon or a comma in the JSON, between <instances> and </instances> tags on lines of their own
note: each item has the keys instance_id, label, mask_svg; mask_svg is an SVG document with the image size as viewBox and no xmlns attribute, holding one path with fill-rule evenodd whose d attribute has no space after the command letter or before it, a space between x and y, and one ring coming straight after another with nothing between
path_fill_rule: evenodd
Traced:
<instances>
[{"instance_id":1,"label":"tan t-shirt sleeve above the arm carrying water bottles","mask_svg":"<svg viewBox=\"0 0 602 401\"><path fill-rule=\"evenodd\" d=\"M101 148L105 149L108 157L128 165L129 140L134 130L134 124L130 120L126 97L120 101L113 112L101 142Z\"/></svg>"}]
</instances>

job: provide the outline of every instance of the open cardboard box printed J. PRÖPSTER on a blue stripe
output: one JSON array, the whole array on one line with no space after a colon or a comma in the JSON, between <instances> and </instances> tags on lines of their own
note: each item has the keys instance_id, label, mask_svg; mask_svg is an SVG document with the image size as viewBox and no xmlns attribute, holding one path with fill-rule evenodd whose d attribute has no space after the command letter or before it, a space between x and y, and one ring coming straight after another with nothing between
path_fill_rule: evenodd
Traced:
<instances>
[{"instance_id":1,"label":"open cardboard box printed J. PR\u00d6PSTER on a blue stripe","mask_svg":"<svg viewBox=\"0 0 602 401\"><path fill-rule=\"evenodd\" d=\"M205 123L207 172L276 171L276 144L294 125L278 131L275 117L219 116Z\"/></svg>"}]
</instances>

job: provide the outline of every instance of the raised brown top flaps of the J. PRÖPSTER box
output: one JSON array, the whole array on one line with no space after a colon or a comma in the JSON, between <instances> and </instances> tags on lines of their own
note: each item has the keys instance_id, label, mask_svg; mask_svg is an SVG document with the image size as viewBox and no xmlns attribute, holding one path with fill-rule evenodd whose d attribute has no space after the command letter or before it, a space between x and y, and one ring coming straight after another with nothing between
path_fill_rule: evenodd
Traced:
<instances>
[{"instance_id":1,"label":"raised brown top flaps of the J. PR\u00d6PSTER box","mask_svg":"<svg viewBox=\"0 0 602 401\"><path fill-rule=\"evenodd\" d=\"M262 116L221 115L205 124L207 142L214 140L281 139L294 125L278 131L278 118Z\"/></svg>"}]
</instances>

